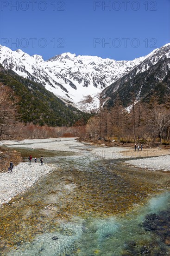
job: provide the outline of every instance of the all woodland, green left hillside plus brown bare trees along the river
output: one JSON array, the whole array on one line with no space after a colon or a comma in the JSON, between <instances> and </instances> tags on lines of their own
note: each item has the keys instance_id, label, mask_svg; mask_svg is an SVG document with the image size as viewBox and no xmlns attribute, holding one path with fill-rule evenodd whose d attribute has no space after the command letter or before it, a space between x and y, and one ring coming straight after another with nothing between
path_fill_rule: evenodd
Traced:
<instances>
[{"instance_id":1,"label":"all woodland, green left hillside plus brown bare trees along the river","mask_svg":"<svg viewBox=\"0 0 170 256\"><path fill-rule=\"evenodd\" d=\"M11 73L10 73L11 72ZM93 113L67 106L41 84L0 69L0 139L79 137L89 141L170 143L170 96L153 92L147 101L114 105Z\"/></svg>"}]
</instances>

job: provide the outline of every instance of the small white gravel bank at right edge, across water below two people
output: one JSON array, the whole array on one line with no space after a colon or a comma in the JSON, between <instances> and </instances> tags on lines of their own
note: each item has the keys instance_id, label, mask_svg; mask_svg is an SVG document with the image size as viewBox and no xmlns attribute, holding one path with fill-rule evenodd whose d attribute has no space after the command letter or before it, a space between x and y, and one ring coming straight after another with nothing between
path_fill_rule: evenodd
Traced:
<instances>
[{"instance_id":1,"label":"small white gravel bank at right edge, across water below two people","mask_svg":"<svg viewBox=\"0 0 170 256\"><path fill-rule=\"evenodd\" d=\"M130 165L149 170L170 171L170 155L126 161Z\"/></svg>"}]
</instances>

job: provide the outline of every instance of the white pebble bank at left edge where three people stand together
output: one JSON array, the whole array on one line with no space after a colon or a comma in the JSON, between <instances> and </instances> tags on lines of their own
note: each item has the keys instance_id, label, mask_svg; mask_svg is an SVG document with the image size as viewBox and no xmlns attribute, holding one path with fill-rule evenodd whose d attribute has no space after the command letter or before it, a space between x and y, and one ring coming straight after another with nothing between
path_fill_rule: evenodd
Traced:
<instances>
[{"instance_id":1,"label":"white pebble bank at left edge where three people stand together","mask_svg":"<svg viewBox=\"0 0 170 256\"><path fill-rule=\"evenodd\" d=\"M34 185L38 179L53 170L52 164L21 162L13 168L13 173L0 174L0 206L15 195Z\"/></svg>"}]
</instances>

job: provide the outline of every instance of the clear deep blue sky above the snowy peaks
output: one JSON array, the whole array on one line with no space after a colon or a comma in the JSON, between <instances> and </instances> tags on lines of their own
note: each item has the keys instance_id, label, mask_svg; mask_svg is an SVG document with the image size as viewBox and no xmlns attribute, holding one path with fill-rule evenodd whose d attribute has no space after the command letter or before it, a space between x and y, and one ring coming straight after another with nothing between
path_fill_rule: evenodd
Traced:
<instances>
[{"instance_id":1,"label":"clear deep blue sky above the snowy peaks","mask_svg":"<svg viewBox=\"0 0 170 256\"><path fill-rule=\"evenodd\" d=\"M170 42L169 0L0 0L0 43L44 60L64 52L132 60Z\"/></svg>"}]
</instances>

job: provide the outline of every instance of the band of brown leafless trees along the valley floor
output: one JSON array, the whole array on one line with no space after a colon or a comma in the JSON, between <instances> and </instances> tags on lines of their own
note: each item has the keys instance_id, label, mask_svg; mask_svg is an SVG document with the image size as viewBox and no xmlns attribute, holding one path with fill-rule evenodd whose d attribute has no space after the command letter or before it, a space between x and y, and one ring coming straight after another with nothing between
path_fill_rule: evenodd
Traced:
<instances>
[{"instance_id":1,"label":"band of brown leafless trees along the valley floor","mask_svg":"<svg viewBox=\"0 0 170 256\"><path fill-rule=\"evenodd\" d=\"M25 124L19 112L18 98L13 90L0 84L0 139L79 137L89 141L118 141L149 143L152 146L170 143L170 97L164 96L159 104L156 95L150 101L133 101L125 109L118 99L112 108L100 108L87 124L84 119L72 126L51 127L28 122Z\"/></svg>"}]
</instances>

